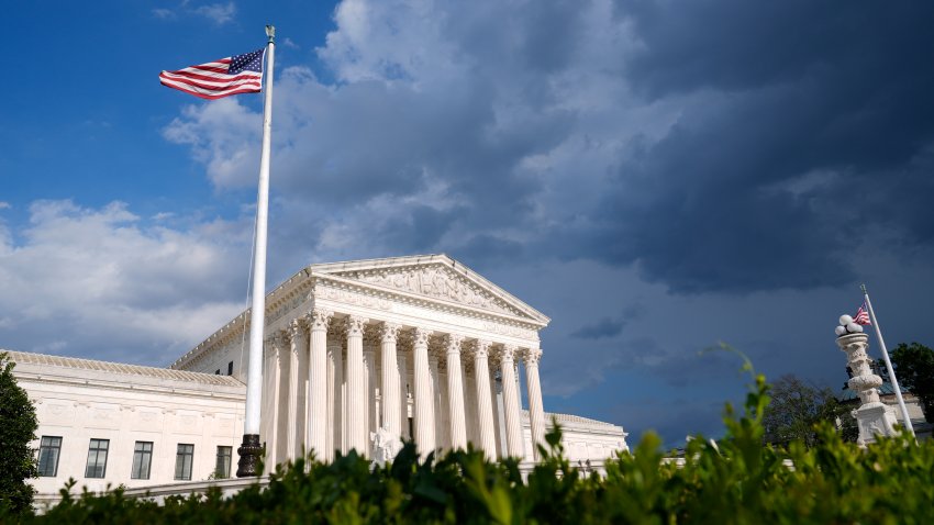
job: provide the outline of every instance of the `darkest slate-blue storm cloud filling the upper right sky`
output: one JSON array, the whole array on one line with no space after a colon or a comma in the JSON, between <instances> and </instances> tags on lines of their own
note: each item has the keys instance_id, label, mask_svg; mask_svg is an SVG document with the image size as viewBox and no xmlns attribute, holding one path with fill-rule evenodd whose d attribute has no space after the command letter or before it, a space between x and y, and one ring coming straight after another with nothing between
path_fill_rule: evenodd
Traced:
<instances>
[{"instance_id":1,"label":"darkest slate-blue storm cloud filling the upper right sky","mask_svg":"<svg viewBox=\"0 0 934 525\"><path fill-rule=\"evenodd\" d=\"M631 83L685 107L575 235L676 292L847 282L867 224L930 243L933 10L621 2L644 44Z\"/></svg>"}]
</instances>

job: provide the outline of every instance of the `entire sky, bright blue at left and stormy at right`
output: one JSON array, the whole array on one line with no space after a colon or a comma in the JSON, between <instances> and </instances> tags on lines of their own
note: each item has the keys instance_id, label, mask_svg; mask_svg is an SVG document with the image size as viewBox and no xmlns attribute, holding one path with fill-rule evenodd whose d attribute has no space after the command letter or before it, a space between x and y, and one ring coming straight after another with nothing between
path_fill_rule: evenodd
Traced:
<instances>
[{"instance_id":1,"label":"entire sky, bright blue at left and stormy at right","mask_svg":"<svg viewBox=\"0 0 934 525\"><path fill-rule=\"evenodd\" d=\"M934 344L927 2L268 3L8 9L0 347L166 366L242 309L260 98L157 75L266 23L270 284L447 253L554 320L546 410L671 444L743 395L719 340L840 388L860 282Z\"/></svg>"}]
</instances>

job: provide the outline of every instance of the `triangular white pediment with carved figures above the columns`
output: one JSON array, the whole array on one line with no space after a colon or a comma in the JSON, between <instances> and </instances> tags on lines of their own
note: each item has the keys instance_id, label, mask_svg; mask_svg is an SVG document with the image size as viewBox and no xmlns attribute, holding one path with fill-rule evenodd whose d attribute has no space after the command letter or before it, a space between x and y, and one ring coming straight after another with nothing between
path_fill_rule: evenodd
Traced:
<instances>
[{"instance_id":1,"label":"triangular white pediment with carved figures above the columns","mask_svg":"<svg viewBox=\"0 0 934 525\"><path fill-rule=\"evenodd\" d=\"M547 324L548 317L446 255L312 265L314 273Z\"/></svg>"}]
</instances>

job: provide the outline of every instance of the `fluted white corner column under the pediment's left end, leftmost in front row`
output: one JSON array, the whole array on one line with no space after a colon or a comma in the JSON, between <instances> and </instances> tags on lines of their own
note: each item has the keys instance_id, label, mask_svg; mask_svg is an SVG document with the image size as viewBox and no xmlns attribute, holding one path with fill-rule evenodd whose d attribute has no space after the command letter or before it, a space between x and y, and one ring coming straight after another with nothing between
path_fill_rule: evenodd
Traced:
<instances>
[{"instance_id":1,"label":"fluted white corner column under the pediment's left end, leftmost in front row","mask_svg":"<svg viewBox=\"0 0 934 525\"><path fill-rule=\"evenodd\" d=\"M311 358L308 364L308 448L321 460L330 458L327 440L329 388L333 384L332 364L327 360L327 324L333 314L314 309L309 313L311 331ZM333 414L333 410L332 410ZM332 442L333 443L333 442Z\"/></svg>"}]
</instances>

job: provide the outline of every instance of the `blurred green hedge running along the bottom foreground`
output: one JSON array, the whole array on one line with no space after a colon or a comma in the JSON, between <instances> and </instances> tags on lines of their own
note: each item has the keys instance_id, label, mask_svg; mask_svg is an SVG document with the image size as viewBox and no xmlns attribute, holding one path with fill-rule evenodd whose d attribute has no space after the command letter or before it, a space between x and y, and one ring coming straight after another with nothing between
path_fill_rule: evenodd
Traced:
<instances>
[{"instance_id":1,"label":"blurred green hedge running along the bottom foreground","mask_svg":"<svg viewBox=\"0 0 934 525\"><path fill-rule=\"evenodd\" d=\"M583 476L566 459L559 431L523 482L518 463L468 450L420 461L407 444L391 465L370 470L354 453L325 465L279 468L268 488L233 498L219 491L163 506L105 495L69 495L25 523L934 523L934 442L883 439L865 450L820 427L816 446L763 446L768 386L761 376L743 414L726 406L726 435L688 444L683 465L664 459L647 435L635 453ZM793 467L789 467L790 460ZM305 470L308 472L305 473ZM3 517L0 515L0 517ZM7 515L9 518L10 515Z\"/></svg>"}]
</instances>

